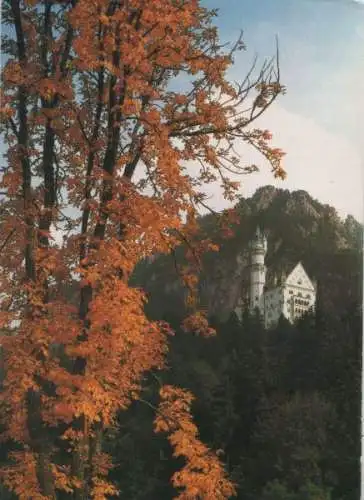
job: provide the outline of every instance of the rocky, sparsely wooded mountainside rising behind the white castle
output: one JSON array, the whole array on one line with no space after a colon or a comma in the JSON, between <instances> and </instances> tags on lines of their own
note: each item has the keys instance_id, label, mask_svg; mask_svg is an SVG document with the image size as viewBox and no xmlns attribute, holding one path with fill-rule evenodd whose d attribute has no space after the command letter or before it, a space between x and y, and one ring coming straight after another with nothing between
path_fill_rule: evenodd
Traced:
<instances>
[{"instance_id":1,"label":"rocky, sparsely wooded mountainside rising behind the white castle","mask_svg":"<svg viewBox=\"0 0 364 500\"><path fill-rule=\"evenodd\" d=\"M268 236L268 283L302 261L318 283L319 300L326 312L347 310L360 300L363 228L352 216L342 220L333 207L305 191L273 186L241 198L236 208L240 222L229 239L221 238L216 216L201 218L201 234L220 244L218 253L206 256L200 275L200 301L210 315L228 317L246 293L248 243L257 224ZM143 262L133 282L146 289L153 316L183 314L183 289L172 258L160 256Z\"/></svg>"}]
</instances>

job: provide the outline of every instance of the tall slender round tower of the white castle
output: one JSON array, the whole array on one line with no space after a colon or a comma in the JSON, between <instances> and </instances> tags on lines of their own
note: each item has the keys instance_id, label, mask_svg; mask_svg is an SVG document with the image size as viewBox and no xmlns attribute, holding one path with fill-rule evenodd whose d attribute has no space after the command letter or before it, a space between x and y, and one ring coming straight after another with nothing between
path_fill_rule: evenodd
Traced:
<instances>
[{"instance_id":1,"label":"tall slender round tower of the white castle","mask_svg":"<svg viewBox=\"0 0 364 500\"><path fill-rule=\"evenodd\" d=\"M250 311L253 312L258 307L264 313L263 293L266 274L264 259L267 253L267 238L259 227L250 243L250 252Z\"/></svg>"}]
</instances>

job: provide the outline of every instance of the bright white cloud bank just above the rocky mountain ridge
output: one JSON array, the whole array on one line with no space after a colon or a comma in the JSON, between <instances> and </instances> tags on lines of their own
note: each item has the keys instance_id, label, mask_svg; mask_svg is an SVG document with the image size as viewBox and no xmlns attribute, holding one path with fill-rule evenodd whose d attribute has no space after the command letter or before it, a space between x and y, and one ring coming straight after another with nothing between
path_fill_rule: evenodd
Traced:
<instances>
[{"instance_id":1,"label":"bright white cloud bank just above the rocky mountain ridge","mask_svg":"<svg viewBox=\"0 0 364 500\"><path fill-rule=\"evenodd\" d=\"M257 173L237 176L241 193L251 196L264 185L278 188L303 189L322 203L332 204L339 215L348 213L363 221L363 161L358 150L345 137L320 127L313 119L273 105L257 122L273 131L272 144L286 152L284 168L288 173L282 181L274 179L269 164L251 148L242 145L237 150L244 163L255 163ZM219 186L207 189L209 205L215 210L229 206L220 195Z\"/></svg>"}]
</instances>

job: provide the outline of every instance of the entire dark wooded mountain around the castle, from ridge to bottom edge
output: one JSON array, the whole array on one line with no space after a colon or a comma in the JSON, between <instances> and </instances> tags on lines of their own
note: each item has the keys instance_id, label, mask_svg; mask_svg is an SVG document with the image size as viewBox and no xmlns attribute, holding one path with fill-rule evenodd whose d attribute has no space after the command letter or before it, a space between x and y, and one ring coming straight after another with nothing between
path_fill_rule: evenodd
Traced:
<instances>
[{"instance_id":1,"label":"entire dark wooded mountain around the castle, from ridge to bottom edge","mask_svg":"<svg viewBox=\"0 0 364 500\"><path fill-rule=\"evenodd\" d=\"M232 226L233 234L218 254L205 256L200 274L204 283L210 276L210 291L200 291L205 307L211 305L216 336L206 339L181 330L183 290L173 294L168 287L176 274L173 259L161 256L136 273L136 282L147 289L149 285L149 314L161 315L176 331L169 369L149 380L146 399L152 400L165 380L191 390L201 438L221 453L237 485L237 498L357 499L363 228L351 216L340 219L333 207L304 191L272 186L241 199L237 211L240 219ZM219 231L217 221L205 216L201 227L211 235ZM234 281L244 281L244 271L231 273L231 262L236 269L236 255L244 255L258 223L268 234L268 283L299 260L317 280L315 313L294 325L282 317L274 329L265 330L259 315L246 312L239 320L235 312L225 312L226 303L231 309ZM249 260L245 265L249 269ZM222 302L206 297L219 295L220 289ZM166 488L174 467L171 452L152 434L148 439L150 412L138 403L129 417L123 416L122 425L133 429L122 447L126 453L118 454L120 477L126 470L131 474L124 487L132 487L132 478L135 488L142 476L150 478L146 492L130 489L125 498L173 496ZM123 456L128 459L123 461Z\"/></svg>"}]
</instances>

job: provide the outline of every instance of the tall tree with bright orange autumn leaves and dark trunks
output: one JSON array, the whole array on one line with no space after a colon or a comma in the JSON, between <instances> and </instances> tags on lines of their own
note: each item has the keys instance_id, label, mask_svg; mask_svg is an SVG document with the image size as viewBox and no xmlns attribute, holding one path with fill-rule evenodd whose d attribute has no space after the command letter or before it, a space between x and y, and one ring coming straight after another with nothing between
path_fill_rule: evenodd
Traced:
<instances>
[{"instance_id":1,"label":"tall tree with bright orange autumn leaves and dark trunks","mask_svg":"<svg viewBox=\"0 0 364 500\"><path fill-rule=\"evenodd\" d=\"M197 0L4 0L0 213L2 481L20 499L116 494L102 434L163 367L168 325L150 321L136 264L181 245L196 310L204 186L233 200L249 173L245 143L284 176L283 153L255 120L283 90L277 61L229 83L239 39L224 48ZM179 498L234 487L198 439L192 396L163 387L156 428L185 467Z\"/></svg>"}]
</instances>

